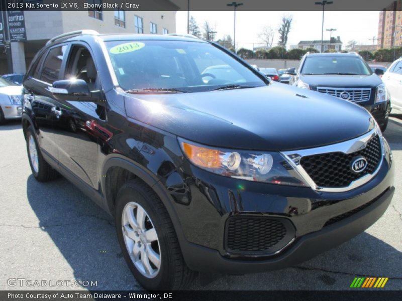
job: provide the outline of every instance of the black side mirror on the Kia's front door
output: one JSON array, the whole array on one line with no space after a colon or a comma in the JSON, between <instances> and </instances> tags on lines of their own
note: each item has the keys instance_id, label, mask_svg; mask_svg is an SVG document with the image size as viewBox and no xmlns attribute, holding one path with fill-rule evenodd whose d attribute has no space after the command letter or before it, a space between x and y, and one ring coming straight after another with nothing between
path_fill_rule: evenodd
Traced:
<instances>
[{"instance_id":1,"label":"black side mirror on the Kia's front door","mask_svg":"<svg viewBox=\"0 0 402 301\"><path fill-rule=\"evenodd\" d=\"M56 99L72 101L96 101L89 91L88 84L82 79L58 80L49 87Z\"/></svg>"}]
</instances>

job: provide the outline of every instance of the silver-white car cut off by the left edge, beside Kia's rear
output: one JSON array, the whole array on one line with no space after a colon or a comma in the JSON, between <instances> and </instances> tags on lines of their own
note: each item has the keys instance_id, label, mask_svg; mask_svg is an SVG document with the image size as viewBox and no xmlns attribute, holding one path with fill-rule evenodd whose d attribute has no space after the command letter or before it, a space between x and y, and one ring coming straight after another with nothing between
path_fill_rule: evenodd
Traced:
<instances>
[{"instance_id":1,"label":"silver-white car cut off by the left edge, beside Kia's rear","mask_svg":"<svg viewBox=\"0 0 402 301\"><path fill-rule=\"evenodd\" d=\"M21 118L22 87L0 76L0 124L9 119Z\"/></svg>"}]
</instances>

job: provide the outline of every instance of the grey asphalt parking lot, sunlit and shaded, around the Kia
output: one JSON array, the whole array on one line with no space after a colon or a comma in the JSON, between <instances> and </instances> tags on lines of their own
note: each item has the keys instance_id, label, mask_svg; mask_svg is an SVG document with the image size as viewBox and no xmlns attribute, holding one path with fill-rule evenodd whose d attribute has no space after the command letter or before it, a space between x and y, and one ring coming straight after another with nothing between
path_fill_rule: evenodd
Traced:
<instances>
[{"instance_id":1,"label":"grey asphalt parking lot, sunlit and shaded, around the Kia","mask_svg":"<svg viewBox=\"0 0 402 301\"><path fill-rule=\"evenodd\" d=\"M349 289L358 276L389 277L383 289L402 288L401 133L402 112L393 111L384 135L396 165L395 195L381 219L364 233L292 268L226 275L191 288ZM55 289L13 286L10 278L52 283L80 279L97 281L90 289L142 289L122 257L112 218L63 178L50 183L34 180L19 121L0 126L0 149L0 289Z\"/></svg>"}]
</instances>

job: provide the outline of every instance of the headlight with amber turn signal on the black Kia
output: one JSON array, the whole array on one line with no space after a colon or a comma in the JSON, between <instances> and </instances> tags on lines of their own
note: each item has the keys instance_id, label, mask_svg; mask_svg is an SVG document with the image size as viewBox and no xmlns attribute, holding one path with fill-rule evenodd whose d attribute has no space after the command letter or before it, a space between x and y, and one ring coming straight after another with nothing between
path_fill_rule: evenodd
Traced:
<instances>
[{"instance_id":1,"label":"headlight with amber turn signal on the black Kia","mask_svg":"<svg viewBox=\"0 0 402 301\"><path fill-rule=\"evenodd\" d=\"M179 143L192 164L214 174L247 181L308 186L280 153L215 148L181 138Z\"/></svg>"}]
</instances>

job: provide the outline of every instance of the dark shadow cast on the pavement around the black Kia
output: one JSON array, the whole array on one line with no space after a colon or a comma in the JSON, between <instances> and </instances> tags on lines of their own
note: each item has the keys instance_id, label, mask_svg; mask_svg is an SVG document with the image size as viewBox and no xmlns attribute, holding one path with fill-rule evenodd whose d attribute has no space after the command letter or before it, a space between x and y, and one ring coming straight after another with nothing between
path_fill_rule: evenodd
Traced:
<instances>
[{"instance_id":1,"label":"dark shadow cast on the pavement around the black Kia","mask_svg":"<svg viewBox=\"0 0 402 301\"><path fill-rule=\"evenodd\" d=\"M97 286L89 289L142 289L122 257L113 218L72 184L64 178L39 183L31 175L27 195L40 228L52 239L76 279L97 281ZM400 251L364 232L295 267L223 275L204 287L195 282L190 289L348 289L357 276L390 277L386 288L400 289L400 262Z\"/></svg>"}]
</instances>

